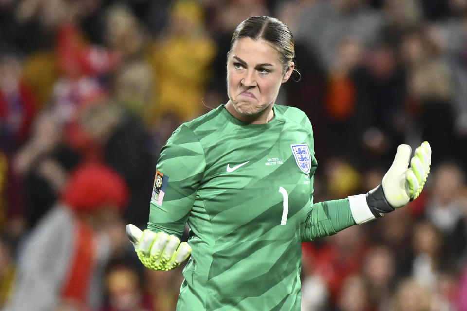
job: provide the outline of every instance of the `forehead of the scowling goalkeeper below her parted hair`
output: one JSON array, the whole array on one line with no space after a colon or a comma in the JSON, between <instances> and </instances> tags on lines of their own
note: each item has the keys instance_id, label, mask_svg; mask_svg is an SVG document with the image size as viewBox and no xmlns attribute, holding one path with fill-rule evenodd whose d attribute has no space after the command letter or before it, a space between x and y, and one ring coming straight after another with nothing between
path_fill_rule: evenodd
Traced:
<instances>
[{"instance_id":1,"label":"forehead of the scowling goalkeeper below her parted hair","mask_svg":"<svg viewBox=\"0 0 467 311\"><path fill-rule=\"evenodd\" d=\"M250 64L280 64L279 52L274 46L263 39L240 38L232 47L230 57L237 56Z\"/></svg>"}]
</instances>

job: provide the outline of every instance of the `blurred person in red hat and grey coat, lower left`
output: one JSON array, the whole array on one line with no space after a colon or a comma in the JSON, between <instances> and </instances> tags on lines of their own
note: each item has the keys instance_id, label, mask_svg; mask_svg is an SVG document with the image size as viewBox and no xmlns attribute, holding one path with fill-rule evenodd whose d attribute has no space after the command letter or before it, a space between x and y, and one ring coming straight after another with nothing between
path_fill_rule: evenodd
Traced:
<instances>
[{"instance_id":1,"label":"blurred person in red hat and grey coat, lower left","mask_svg":"<svg viewBox=\"0 0 467 311\"><path fill-rule=\"evenodd\" d=\"M100 307L99 271L126 242L117 224L127 200L127 185L118 173L100 163L80 165L59 202L26 238L4 311Z\"/></svg>"}]
</instances>

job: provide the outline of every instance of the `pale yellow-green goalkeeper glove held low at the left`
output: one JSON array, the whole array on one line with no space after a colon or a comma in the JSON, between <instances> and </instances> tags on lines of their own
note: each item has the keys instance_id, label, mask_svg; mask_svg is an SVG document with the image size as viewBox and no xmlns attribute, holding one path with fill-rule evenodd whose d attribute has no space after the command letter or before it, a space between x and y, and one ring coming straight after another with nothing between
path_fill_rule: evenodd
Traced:
<instances>
[{"instance_id":1,"label":"pale yellow-green goalkeeper glove held low at the left","mask_svg":"<svg viewBox=\"0 0 467 311\"><path fill-rule=\"evenodd\" d=\"M140 261L152 270L167 271L177 268L191 254L191 247L187 242L180 243L179 238L165 232L141 231L129 224L126 225L126 235L133 243Z\"/></svg>"}]
</instances>

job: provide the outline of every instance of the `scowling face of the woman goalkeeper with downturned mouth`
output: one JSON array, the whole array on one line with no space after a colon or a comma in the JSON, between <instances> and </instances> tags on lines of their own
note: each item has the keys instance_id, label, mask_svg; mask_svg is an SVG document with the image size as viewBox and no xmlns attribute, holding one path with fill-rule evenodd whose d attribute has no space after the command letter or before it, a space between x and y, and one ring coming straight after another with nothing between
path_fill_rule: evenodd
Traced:
<instances>
[{"instance_id":1,"label":"scowling face of the woman goalkeeper with downturned mouth","mask_svg":"<svg viewBox=\"0 0 467 311\"><path fill-rule=\"evenodd\" d=\"M268 116L294 66L291 63L284 73L279 57L273 45L263 39L246 37L234 43L227 60L227 108L234 117L251 121Z\"/></svg>"}]
</instances>

